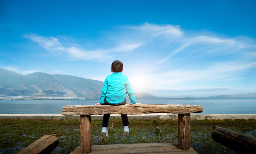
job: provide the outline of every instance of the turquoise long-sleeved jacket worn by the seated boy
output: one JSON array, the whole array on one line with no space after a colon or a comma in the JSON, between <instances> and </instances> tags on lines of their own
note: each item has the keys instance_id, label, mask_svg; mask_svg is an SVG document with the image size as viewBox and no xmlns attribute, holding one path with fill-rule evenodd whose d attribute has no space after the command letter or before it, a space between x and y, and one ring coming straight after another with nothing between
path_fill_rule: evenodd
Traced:
<instances>
[{"instance_id":1,"label":"turquoise long-sleeved jacket worn by the seated boy","mask_svg":"<svg viewBox=\"0 0 256 154\"><path fill-rule=\"evenodd\" d=\"M128 94L131 103L136 104L134 90L125 75L122 72L113 72L107 76L101 90L100 104L105 104L104 99L108 102L117 104L126 99L125 94Z\"/></svg>"}]
</instances>

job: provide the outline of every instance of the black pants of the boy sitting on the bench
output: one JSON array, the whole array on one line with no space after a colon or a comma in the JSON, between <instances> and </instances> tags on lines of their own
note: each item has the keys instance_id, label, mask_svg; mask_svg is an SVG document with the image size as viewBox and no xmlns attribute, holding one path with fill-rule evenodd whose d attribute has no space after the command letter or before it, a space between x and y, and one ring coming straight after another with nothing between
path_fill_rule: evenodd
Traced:
<instances>
[{"instance_id":1,"label":"black pants of the boy sitting on the bench","mask_svg":"<svg viewBox=\"0 0 256 154\"><path fill-rule=\"evenodd\" d=\"M104 99L104 101L105 101L104 105L125 105L126 104L126 99L122 103L119 103L119 104L111 104L106 99ZM127 114L121 114L121 117L122 117L123 126L128 126L129 125L129 120L128 120ZM104 114L103 115L102 127L108 127L109 118L110 118L110 114Z\"/></svg>"}]
</instances>

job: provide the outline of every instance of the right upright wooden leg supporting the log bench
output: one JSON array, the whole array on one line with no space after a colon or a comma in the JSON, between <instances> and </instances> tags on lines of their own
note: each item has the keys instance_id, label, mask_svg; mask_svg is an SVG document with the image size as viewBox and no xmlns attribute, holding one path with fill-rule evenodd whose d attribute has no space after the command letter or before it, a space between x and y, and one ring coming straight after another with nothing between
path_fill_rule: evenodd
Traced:
<instances>
[{"instance_id":1,"label":"right upright wooden leg supporting the log bench","mask_svg":"<svg viewBox=\"0 0 256 154\"><path fill-rule=\"evenodd\" d=\"M178 114L178 148L189 150L190 146L190 114Z\"/></svg>"}]
</instances>

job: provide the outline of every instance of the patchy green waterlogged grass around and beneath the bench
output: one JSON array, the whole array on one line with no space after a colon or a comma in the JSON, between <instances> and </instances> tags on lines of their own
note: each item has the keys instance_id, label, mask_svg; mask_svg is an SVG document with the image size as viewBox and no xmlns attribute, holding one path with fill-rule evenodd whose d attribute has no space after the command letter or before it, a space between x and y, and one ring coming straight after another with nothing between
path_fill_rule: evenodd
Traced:
<instances>
[{"instance_id":1,"label":"patchy green waterlogged grass around and beneath the bench","mask_svg":"<svg viewBox=\"0 0 256 154\"><path fill-rule=\"evenodd\" d=\"M178 141L178 121L130 120L130 136L123 136L122 120L110 119L114 132L102 144ZM213 126L220 126L256 138L256 119L191 121L191 147L200 154L236 154L211 138ZM159 127L161 132L156 131ZM91 121L92 144L100 137L101 120ZM15 154L45 134L56 134L60 142L52 154L69 154L80 146L79 120L0 120L0 154Z\"/></svg>"}]
</instances>

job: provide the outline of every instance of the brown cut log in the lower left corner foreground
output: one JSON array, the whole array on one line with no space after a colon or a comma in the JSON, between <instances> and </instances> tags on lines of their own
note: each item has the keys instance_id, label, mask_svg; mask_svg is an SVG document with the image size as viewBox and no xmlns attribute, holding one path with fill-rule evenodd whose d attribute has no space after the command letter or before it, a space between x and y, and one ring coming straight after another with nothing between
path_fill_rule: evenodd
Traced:
<instances>
[{"instance_id":1,"label":"brown cut log in the lower left corner foreground","mask_svg":"<svg viewBox=\"0 0 256 154\"><path fill-rule=\"evenodd\" d=\"M59 144L56 135L44 135L17 154L50 154Z\"/></svg>"}]
</instances>

